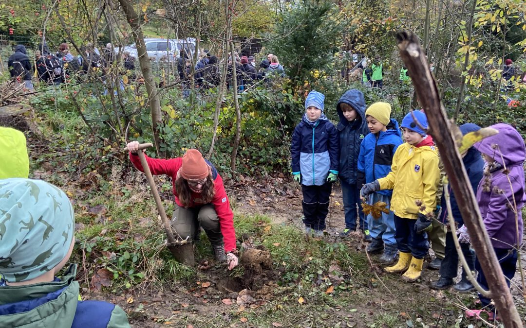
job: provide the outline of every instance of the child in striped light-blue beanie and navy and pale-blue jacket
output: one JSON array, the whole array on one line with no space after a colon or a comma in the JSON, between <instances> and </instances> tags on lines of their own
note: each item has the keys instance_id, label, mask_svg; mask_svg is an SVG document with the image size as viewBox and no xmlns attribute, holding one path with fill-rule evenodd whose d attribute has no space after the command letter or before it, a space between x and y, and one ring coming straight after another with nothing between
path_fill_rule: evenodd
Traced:
<instances>
[{"instance_id":1,"label":"child in striped light-blue beanie and navy and pale-blue jacket","mask_svg":"<svg viewBox=\"0 0 526 328\"><path fill-rule=\"evenodd\" d=\"M290 146L292 176L303 192L305 232L307 236L314 232L315 237L323 236L331 184L338 179L338 134L323 115L323 100L322 93L309 93Z\"/></svg>"}]
</instances>

